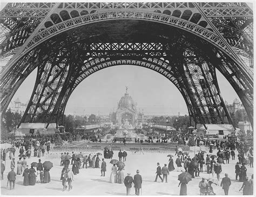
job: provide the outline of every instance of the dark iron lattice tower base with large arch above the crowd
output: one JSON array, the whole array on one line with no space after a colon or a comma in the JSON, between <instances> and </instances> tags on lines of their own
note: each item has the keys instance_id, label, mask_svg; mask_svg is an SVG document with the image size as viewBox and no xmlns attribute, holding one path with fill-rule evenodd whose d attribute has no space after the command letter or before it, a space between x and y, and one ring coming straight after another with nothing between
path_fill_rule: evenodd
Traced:
<instances>
[{"instance_id":1,"label":"dark iron lattice tower base with large arch above the crowd","mask_svg":"<svg viewBox=\"0 0 256 197\"><path fill-rule=\"evenodd\" d=\"M0 13L2 115L37 69L21 122L62 124L87 76L116 65L152 69L183 95L196 123L231 123L216 69L253 124L253 12L246 3L9 3ZM20 123L21 124L21 123Z\"/></svg>"}]
</instances>

